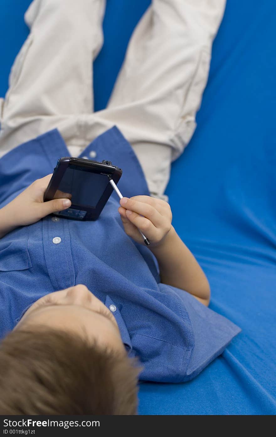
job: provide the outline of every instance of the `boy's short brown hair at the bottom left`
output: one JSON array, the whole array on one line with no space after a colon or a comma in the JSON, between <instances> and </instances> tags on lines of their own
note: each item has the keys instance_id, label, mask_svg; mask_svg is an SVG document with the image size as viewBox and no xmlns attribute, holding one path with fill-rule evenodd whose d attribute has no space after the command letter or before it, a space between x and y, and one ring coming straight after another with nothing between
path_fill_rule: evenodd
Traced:
<instances>
[{"instance_id":1,"label":"boy's short brown hair at the bottom left","mask_svg":"<svg viewBox=\"0 0 276 437\"><path fill-rule=\"evenodd\" d=\"M18 329L0 344L0 414L136 414L139 370L76 334Z\"/></svg>"}]
</instances>

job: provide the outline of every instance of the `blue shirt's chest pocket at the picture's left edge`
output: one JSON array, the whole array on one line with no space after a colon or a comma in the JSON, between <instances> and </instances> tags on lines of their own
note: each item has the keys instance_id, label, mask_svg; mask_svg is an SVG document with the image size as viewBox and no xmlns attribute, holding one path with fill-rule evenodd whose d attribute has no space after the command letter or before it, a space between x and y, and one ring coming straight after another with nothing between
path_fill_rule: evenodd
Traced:
<instances>
[{"instance_id":1,"label":"blue shirt's chest pocket at the picture's left edge","mask_svg":"<svg viewBox=\"0 0 276 437\"><path fill-rule=\"evenodd\" d=\"M28 227L15 229L0 239L0 272L32 267L28 252Z\"/></svg>"}]
</instances>

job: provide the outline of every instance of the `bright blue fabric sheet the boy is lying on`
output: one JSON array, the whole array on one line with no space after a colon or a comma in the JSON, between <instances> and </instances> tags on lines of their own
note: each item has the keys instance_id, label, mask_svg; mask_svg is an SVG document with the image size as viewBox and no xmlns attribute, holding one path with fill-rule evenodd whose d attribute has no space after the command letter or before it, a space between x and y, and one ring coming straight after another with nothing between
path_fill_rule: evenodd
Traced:
<instances>
[{"instance_id":1,"label":"bright blue fabric sheet the boy is lying on","mask_svg":"<svg viewBox=\"0 0 276 437\"><path fill-rule=\"evenodd\" d=\"M28 34L29 3L1 3L1 96ZM94 64L96 110L107 103L149 3L107 1L105 44ZM242 333L193 381L141 384L140 414L276 413L275 15L274 0L228 1L197 131L167 189L173 224L209 278L210 308Z\"/></svg>"}]
</instances>

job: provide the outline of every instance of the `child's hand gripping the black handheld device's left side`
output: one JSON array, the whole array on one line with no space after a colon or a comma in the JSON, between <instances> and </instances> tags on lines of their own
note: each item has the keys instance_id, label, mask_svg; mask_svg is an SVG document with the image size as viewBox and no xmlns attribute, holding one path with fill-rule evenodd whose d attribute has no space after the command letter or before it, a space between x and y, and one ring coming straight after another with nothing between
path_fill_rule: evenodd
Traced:
<instances>
[{"instance_id":1,"label":"child's hand gripping the black handheld device's left side","mask_svg":"<svg viewBox=\"0 0 276 437\"><path fill-rule=\"evenodd\" d=\"M69 198L71 194L59 193L62 199L54 199L43 202L43 196L52 174L37 179L26 190L22 191L13 201L6 205L2 211L10 216L12 227L31 225L38 222L52 212L62 211L71 206ZM5 211L4 211L5 210Z\"/></svg>"}]
</instances>

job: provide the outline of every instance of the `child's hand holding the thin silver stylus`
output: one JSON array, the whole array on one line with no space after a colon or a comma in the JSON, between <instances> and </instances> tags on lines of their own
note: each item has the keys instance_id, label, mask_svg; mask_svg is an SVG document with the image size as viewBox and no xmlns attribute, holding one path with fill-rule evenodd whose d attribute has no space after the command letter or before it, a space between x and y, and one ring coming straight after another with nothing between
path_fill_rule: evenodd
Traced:
<instances>
[{"instance_id":1,"label":"child's hand holding the thin silver stylus","mask_svg":"<svg viewBox=\"0 0 276 437\"><path fill-rule=\"evenodd\" d=\"M172 228L172 212L167 202L150 196L134 196L122 198L120 204L118 212L128 236L137 243L144 243L139 228L151 246L159 246L165 240Z\"/></svg>"}]
</instances>

